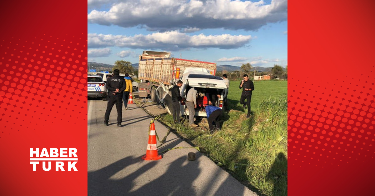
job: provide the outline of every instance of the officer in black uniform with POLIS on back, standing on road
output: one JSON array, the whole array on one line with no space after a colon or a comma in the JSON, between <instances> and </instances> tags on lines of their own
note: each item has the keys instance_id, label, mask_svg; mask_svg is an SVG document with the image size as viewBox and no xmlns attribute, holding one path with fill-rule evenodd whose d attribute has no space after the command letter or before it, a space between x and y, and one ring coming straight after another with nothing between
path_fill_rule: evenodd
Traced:
<instances>
[{"instance_id":1,"label":"officer in black uniform with POLIS on back, standing on road","mask_svg":"<svg viewBox=\"0 0 375 196\"><path fill-rule=\"evenodd\" d=\"M116 104L117 109L117 127L121 127L122 121L122 96L126 88L125 80L120 76L120 71L115 69L113 71L114 76L108 78L105 87L108 89L108 104L107 111L105 111L104 124L108 126L108 120L110 119L110 113L113 105Z\"/></svg>"}]
</instances>

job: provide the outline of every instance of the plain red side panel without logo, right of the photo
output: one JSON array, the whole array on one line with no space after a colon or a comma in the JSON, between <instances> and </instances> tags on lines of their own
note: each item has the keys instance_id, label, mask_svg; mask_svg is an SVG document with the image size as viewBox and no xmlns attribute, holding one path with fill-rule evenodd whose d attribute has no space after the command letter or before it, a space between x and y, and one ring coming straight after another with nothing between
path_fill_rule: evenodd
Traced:
<instances>
[{"instance_id":1,"label":"plain red side panel without logo, right of the photo","mask_svg":"<svg viewBox=\"0 0 375 196\"><path fill-rule=\"evenodd\" d=\"M294 1L288 195L373 195L373 1Z\"/></svg>"}]
</instances>

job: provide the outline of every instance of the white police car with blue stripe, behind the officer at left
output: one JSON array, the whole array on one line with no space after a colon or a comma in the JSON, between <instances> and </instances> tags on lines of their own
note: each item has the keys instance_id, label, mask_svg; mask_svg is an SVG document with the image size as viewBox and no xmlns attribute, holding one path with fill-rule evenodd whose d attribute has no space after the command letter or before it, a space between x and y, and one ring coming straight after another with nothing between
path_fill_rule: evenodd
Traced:
<instances>
[{"instance_id":1,"label":"white police car with blue stripe, behind the officer at left","mask_svg":"<svg viewBox=\"0 0 375 196\"><path fill-rule=\"evenodd\" d=\"M87 96L93 98L107 97L107 88L100 75L87 75Z\"/></svg>"}]
</instances>

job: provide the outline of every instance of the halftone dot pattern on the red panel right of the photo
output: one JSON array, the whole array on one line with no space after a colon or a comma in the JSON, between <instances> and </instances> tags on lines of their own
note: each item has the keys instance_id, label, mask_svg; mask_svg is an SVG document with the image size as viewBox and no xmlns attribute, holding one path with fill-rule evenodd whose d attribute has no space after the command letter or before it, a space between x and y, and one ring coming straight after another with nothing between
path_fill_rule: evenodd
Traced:
<instances>
[{"instance_id":1,"label":"halftone dot pattern on the red panel right of the photo","mask_svg":"<svg viewBox=\"0 0 375 196\"><path fill-rule=\"evenodd\" d=\"M375 74L337 83L288 80L288 161L293 166L336 166L375 157ZM299 85L301 85L299 87Z\"/></svg>"}]
</instances>

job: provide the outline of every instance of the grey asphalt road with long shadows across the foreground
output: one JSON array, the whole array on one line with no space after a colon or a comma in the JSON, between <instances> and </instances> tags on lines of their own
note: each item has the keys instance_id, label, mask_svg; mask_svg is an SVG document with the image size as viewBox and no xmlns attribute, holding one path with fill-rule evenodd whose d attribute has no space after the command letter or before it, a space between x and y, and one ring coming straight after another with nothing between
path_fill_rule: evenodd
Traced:
<instances>
[{"instance_id":1,"label":"grey asphalt road with long shadows across the foreground","mask_svg":"<svg viewBox=\"0 0 375 196\"><path fill-rule=\"evenodd\" d=\"M114 107L110 125L106 127L106 107L107 101L88 101L88 195L257 195L194 148L168 151L157 161L142 160L152 117L136 104L130 104L128 110L123 110L123 127L118 128ZM159 122L155 123L155 128L160 139L168 131ZM166 141L159 152L175 146L191 147L173 133ZM195 161L187 160L189 152L196 153Z\"/></svg>"}]
</instances>

